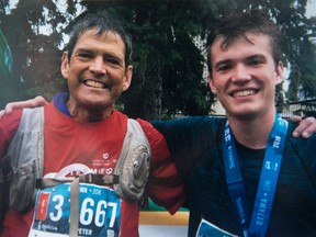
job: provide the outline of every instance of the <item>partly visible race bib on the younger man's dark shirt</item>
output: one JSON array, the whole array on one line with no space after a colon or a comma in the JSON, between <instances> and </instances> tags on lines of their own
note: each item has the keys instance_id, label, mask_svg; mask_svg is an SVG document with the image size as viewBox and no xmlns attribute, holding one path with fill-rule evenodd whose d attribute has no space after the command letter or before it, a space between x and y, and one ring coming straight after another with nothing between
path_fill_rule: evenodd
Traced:
<instances>
[{"instance_id":1,"label":"partly visible race bib on the younger man's dark shirt","mask_svg":"<svg viewBox=\"0 0 316 237\"><path fill-rule=\"evenodd\" d=\"M202 219L196 233L196 237L238 237L224 229L218 228L212 223Z\"/></svg>"}]
</instances>

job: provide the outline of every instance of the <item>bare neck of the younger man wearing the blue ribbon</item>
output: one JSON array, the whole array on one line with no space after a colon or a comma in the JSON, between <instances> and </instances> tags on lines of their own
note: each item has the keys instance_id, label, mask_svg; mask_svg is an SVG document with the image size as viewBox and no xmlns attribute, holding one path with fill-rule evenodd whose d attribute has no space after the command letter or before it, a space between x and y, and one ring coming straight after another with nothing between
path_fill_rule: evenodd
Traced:
<instances>
[{"instance_id":1,"label":"bare neck of the younger man wearing the blue ribbon","mask_svg":"<svg viewBox=\"0 0 316 237\"><path fill-rule=\"evenodd\" d=\"M250 120L239 120L229 115L227 117L238 143L252 149L266 148L270 132L274 125L275 112Z\"/></svg>"}]
</instances>

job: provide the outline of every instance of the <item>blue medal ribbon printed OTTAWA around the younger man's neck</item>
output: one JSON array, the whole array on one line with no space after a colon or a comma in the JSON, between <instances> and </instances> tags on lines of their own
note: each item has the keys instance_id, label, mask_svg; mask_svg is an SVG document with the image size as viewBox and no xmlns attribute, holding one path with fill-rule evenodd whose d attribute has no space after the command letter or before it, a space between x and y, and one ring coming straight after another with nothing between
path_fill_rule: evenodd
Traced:
<instances>
[{"instance_id":1,"label":"blue medal ribbon printed OTTAWA around the younger man's neck","mask_svg":"<svg viewBox=\"0 0 316 237\"><path fill-rule=\"evenodd\" d=\"M281 168L286 133L287 122L276 115L267 143L259 185L250 219L235 139L230 132L228 121L226 123L223 149L226 182L234 210L237 214L245 237L266 236Z\"/></svg>"}]
</instances>

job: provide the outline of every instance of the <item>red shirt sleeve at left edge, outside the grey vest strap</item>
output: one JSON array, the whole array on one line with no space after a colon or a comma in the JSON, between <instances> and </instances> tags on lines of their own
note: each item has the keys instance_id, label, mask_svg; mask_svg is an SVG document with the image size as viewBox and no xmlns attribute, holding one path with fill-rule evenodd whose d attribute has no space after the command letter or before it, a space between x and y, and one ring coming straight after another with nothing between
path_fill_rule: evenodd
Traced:
<instances>
[{"instance_id":1,"label":"red shirt sleeve at left edge, outside the grey vest strap","mask_svg":"<svg viewBox=\"0 0 316 237\"><path fill-rule=\"evenodd\" d=\"M0 159L5 155L9 144L18 131L21 116L22 110L14 110L0 120Z\"/></svg>"}]
</instances>

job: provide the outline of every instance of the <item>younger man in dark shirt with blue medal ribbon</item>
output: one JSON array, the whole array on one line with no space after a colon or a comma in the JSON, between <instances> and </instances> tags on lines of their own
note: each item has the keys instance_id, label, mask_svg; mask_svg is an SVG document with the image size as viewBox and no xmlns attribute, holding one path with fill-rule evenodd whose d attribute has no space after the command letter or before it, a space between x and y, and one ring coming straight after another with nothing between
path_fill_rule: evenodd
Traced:
<instances>
[{"instance_id":1,"label":"younger man in dark shirt with blue medal ribbon","mask_svg":"<svg viewBox=\"0 0 316 237\"><path fill-rule=\"evenodd\" d=\"M316 136L294 138L296 125L275 112L280 37L260 11L225 18L206 52L208 84L227 120L155 123L187 180L190 237L315 236Z\"/></svg>"}]
</instances>

